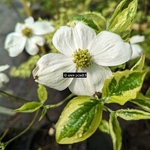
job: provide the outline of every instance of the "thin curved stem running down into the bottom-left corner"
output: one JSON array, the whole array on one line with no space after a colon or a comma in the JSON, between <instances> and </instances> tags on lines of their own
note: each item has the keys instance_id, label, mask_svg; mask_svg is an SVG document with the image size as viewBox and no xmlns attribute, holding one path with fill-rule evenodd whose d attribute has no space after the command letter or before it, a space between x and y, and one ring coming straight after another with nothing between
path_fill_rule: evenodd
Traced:
<instances>
[{"instance_id":1,"label":"thin curved stem running down into the bottom-left corner","mask_svg":"<svg viewBox=\"0 0 150 150\"><path fill-rule=\"evenodd\" d=\"M4 146L6 147L8 144L10 144L12 141L16 140L18 137L22 136L25 132L27 132L31 126L34 124L37 116L38 116L39 111L36 111L35 116L33 118L33 120L31 121L31 123L28 125L28 127L23 130L20 134L16 135L15 137L13 137L12 139L10 139L9 141L7 141L6 143L4 143Z\"/></svg>"}]
</instances>

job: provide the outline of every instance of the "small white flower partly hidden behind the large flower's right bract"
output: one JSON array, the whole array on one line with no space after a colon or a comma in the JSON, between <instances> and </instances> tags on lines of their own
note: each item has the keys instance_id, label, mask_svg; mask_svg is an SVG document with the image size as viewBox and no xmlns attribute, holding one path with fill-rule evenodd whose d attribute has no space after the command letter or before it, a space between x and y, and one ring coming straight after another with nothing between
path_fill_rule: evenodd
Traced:
<instances>
[{"instance_id":1,"label":"small white flower partly hidden behind the large flower's right bract","mask_svg":"<svg viewBox=\"0 0 150 150\"><path fill-rule=\"evenodd\" d=\"M130 38L130 43L131 43L131 47L132 47L131 59L135 59L142 55L142 47L136 43L143 42L144 39L145 39L144 36L139 36L139 35L136 35L136 36L133 36Z\"/></svg>"}]
</instances>

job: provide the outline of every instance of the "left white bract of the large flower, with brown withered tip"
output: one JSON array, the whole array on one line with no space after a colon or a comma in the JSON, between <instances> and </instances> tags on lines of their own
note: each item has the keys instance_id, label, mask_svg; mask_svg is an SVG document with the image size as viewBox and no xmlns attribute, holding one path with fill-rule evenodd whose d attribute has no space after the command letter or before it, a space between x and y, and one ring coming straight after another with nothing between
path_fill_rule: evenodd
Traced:
<instances>
[{"instance_id":1,"label":"left white bract of the large flower, with brown withered tip","mask_svg":"<svg viewBox=\"0 0 150 150\"><path fill-rule=\"evenodd\" d=\"M62 54L46 54L39 59L33 70L35 81L48 87L64 90L72 82L72 78L64 78L64 72L75 72L72 60Z\"/></svg>"}]
</instances>

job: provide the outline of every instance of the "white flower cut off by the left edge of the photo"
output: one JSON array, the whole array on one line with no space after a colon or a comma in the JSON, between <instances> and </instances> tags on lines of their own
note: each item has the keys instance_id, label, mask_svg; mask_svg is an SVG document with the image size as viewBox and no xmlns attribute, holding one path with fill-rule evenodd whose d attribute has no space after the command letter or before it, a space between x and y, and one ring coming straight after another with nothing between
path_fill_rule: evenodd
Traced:
<instances>
[{"instance_id":1,"label":"white flower cut off by the left edge of the photo","mask_svg":"<svg viewBox=\"0 0 150 150\"><path fill-rule=\"evenodd\" d=\"M0 66L0 72L9 68L9 65L2 65ZM4 73L0 73L0 87L2 87L5 83L9 81L9 78Z\"/></svg>"}]
</instances>

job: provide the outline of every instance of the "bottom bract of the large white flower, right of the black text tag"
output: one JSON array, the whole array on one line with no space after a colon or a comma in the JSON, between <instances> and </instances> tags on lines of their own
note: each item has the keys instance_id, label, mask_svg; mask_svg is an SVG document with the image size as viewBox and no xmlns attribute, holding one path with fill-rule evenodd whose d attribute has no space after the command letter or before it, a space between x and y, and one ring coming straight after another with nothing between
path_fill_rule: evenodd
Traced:
<instances>
[{"instance_id":1,"label":"bottom bract of the large white flower, right of the black text tag","mask_svg":"<svg viewBox=\"0 0 150 150\"><path fill-rule=\"evenodd\" d=\"M82 72L79 70L79 72ZM101 92L104 81L112 75L108 67L102 67L92 64L86 68L87 78L74 78L69 85L69 89L76 95L94 95L95 92Z\"/></svg>"}]
</instances>

